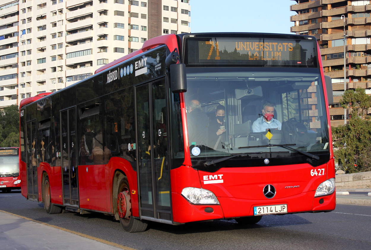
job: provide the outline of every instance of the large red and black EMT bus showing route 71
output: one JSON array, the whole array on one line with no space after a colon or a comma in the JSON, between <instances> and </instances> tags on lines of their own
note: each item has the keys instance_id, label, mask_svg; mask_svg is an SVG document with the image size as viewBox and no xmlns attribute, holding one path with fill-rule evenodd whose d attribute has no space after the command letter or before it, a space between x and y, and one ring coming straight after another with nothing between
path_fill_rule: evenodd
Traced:
<instances>
[{"instance_id":1,"label":"large red and black EMT bus showing route 71","mask_svg":"<svg viewBox=\"0 0 371 250\"><path fill-rule=\"evenodd\" d=\"M311 36L149 39L22 100L22 194L49 214L111 214L128 232L332 211L332 86L320 59Z\"/></svg>"}]
</instances>

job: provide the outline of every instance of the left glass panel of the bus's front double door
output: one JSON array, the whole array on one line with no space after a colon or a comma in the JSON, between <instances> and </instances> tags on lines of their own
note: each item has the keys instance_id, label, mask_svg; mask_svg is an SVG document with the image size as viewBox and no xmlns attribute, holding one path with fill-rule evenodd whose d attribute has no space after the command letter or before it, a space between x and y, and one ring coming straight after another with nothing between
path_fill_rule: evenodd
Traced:
<instances>
[{"instance_id":1,"label":"left glass panel of the bus's front double door","mask_svg":"<svg viewBox=\"0 0 371 250\"><path fill-rule=\"evenodd\" d=\"M141 208L153 210L152 202L152 169L151 169L151 135L149 116L148 84L136 88L137 95L137 153L139 171L139 189ZM142 211L145 216L153 217L153 212Z\"/></svg>"}]
</instances>

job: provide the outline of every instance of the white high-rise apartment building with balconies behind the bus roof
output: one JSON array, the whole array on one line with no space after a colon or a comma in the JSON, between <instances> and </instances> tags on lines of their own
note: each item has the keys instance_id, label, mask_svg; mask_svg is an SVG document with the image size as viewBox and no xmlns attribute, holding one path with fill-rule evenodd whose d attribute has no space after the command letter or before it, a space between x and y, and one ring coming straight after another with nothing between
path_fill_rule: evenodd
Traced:
<instances>
[{"instance_id":1,"label":"white high-rise apartment building with balconies behind the bus roof","mask_svg":"<svg viewBox=\"0 0 371 250\"><path fill-rule=\"evenodd\" d=\"M0 108L55 92L150 38L190 32L189 0L2 0Z\"/></svg>"}]
</instances>

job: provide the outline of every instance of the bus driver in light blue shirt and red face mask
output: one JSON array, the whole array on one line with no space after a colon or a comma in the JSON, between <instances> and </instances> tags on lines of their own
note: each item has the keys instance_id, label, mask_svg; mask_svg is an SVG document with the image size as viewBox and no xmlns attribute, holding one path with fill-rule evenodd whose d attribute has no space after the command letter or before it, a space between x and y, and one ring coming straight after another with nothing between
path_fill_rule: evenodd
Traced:
<instances>
[{"instance_id":1,"label":"bus driver in light blue shirt and red face mask","mask_svg":"<svg viewBox=\"0 0 371 250\"><path fill-rule=\"evenodd\" d=\"M262 109L263 115L254 121L252 129L254 133L265 132L266 129L281 130L282 124L273 118L275 108L272 103L266 103Z\"/></svg>"}]
</instances>

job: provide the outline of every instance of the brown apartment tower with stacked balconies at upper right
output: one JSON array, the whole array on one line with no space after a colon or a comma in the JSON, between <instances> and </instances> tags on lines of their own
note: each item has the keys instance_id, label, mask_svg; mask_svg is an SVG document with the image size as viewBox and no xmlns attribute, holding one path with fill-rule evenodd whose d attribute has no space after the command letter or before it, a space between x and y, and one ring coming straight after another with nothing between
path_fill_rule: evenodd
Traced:
<instances>
[{"instance_id":1,"label":"brown apartment tower with stacked balconies at upper right","mask_svg":"<svg viewBox=\"0 0 371 250\"><path fill-rule=\"evenodd\" d=\"M332 78L334 105L331 126L344 124L339 105L346 88L364 88L371 94L371 4L370 0L293 0L290 10L297 14L291 32L314 36L319 43L325 75ZM345 29L345 68L344 68ZM370 110L369 110L369 113ZM347 118L348 117L347 111Z\"/></svg>"}]
</instances>

